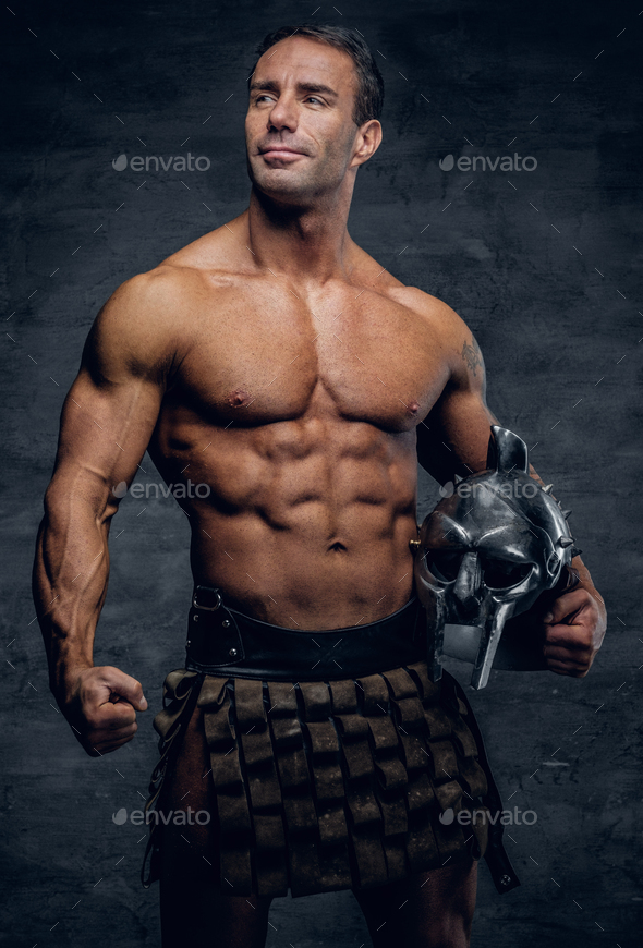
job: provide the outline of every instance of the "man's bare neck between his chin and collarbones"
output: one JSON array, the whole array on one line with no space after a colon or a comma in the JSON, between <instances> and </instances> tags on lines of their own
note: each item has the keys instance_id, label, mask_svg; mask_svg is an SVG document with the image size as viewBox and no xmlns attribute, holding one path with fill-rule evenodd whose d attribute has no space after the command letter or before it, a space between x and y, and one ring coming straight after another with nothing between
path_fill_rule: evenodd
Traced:
<instances>
[{"instance_id":1,"label":"man's bare neck between his chin and collarbones","mask_svg":"<svg viewBox=\"0 0 643 948\"><path fill-rule=\"evenodd\" d=\"M345 276L353 243L347 230L350 198L335 194L294 207L253 185L246 220L254 263L298 281L324 283Z\"/></svg>"}]
</instances>

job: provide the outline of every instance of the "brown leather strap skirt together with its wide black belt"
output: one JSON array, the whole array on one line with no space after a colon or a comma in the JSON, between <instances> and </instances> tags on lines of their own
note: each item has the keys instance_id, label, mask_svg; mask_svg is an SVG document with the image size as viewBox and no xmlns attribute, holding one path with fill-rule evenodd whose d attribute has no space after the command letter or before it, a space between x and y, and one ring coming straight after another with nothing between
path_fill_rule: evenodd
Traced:
<instances>
[{"instance_id":1,"label":"brown leather strap skirt together with its wide black belt","mask_svg":"<svg viewBox=\"0 0 643 948\"><path fill-rule=\"evenodd\" d=\"M429 680L423 618L412 599L377 622L300 632L197 586L186 667L168 674L154 720L143 884L160 876L153 812L197 710L216 799L208 862L228 892L366 889L483 855L498 891L520 885L486 818L502 804L471 707L448 672Z\"/></svg>"}]
</instances>

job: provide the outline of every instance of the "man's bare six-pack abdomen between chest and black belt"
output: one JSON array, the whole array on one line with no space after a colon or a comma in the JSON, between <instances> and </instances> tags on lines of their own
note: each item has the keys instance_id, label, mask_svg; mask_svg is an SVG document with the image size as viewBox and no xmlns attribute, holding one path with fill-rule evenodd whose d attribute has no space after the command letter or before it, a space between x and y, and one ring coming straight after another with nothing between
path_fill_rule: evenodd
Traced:
<instances>
[{"instance_id":1,"label":"man's bare six-pack abdomen between chest and black belt","mask_svg":"<svg viewBox=\"0 0 643 948\"><path fill-rule=\"evenodd\" d=\"M183 479L210 487L182 501L195 583L217 586L246 615L302 630L373 622L410 599L414 430L339 418L170 427L151 451L166 479L187 464Z\"/></svg>"}]
</instances>

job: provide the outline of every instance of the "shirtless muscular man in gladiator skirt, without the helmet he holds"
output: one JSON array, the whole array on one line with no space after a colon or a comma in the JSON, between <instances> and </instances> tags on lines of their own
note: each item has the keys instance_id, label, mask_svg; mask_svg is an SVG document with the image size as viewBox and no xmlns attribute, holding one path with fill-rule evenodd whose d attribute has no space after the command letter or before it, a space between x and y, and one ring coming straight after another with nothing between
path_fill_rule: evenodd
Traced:
<instances>
[{"instance_id":1,"label":"shirtless muscular man in gladiator skirt, without the helmet he holds","mask_svg":"<svg viewBox=\"0 0 643 948\"><path fill-rule=\"evenodd\" d=\"M167 767L157 806L180 809L190 794L213 819L163 827L163 945L186 944L189 932L194 946L260 946L270 894L288 883L299 894L353 888L378 948L460 948L485 840L465 846L436 813L452 793L460 806L462 787L484 794L482 749L472 750L456 691L432 690L413 623L400 617L415 615L417 460L440 482L485 467L496 420L483 360L447 305L402 285L348 233L357 169L381 141L381 77L365 44L345 29L284 28L259 53L245 124L248 209L117 290L64 404L35 567L51 688L90 755L132 740L147 707L135 679L92 658L120 502L112 488L132 482L147 449L166 482L210 487L182 500L196 592L186 670L169 676L170 707L157 717ZM545 617L545 655L553 671L582 677L605 610L580 559L574 567L580 585ZM367 640L351 636L366 631L379 644L355 657L351 643ZM298 643L322 647L315 636L326 633L315 678L298 666ZM398 660L387 653L375 665L398 635ZM220 642L232 645L210 660ZM255 659L272 673L253 671ZM324 730L329 718L339 739ZM430 774L413 746L432 758ZM439 748L459 783L447 767L437 773ZM314 790L288 797L300 765ZM413 786L426 788L415 797L413 767ZM353 799L361 779L371 795ZM326 795L325 780L336 788ZM374 800L372 832L360 821ZM304 811L312 837L291 825ZM402 828L390 829L400 813ZM418 840L437 844L430 859Z\"/></svg>"}]
</instances>

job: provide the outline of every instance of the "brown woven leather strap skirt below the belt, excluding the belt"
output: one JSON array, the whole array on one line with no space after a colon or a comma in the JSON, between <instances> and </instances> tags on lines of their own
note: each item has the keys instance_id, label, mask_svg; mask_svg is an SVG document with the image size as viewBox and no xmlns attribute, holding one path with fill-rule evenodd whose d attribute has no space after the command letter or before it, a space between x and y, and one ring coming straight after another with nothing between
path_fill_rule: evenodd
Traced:
<instances>
[{"instance_id":1,"label":"brown woven leather strap skirt below the belt, excluding the belt","mask_svg":"<svg viewBox=\"0 0 643 948\"><path fill-rule=\"evenodd\" d=\"M460 691L448 673L429 681L425 661L307 682L173 671L155 718L161 757L146 814L162 806L165 775L198 705L217 804L211 860L228 892L372 888L482 855L508 891L520 883L499 822L457 818L501 807ZM163 826L150 821L150 830L145 886L160 875Z\"/></svg>"}]
</instances>

